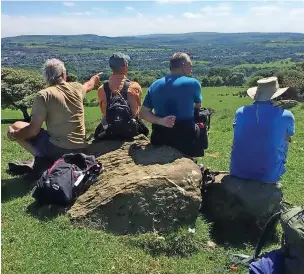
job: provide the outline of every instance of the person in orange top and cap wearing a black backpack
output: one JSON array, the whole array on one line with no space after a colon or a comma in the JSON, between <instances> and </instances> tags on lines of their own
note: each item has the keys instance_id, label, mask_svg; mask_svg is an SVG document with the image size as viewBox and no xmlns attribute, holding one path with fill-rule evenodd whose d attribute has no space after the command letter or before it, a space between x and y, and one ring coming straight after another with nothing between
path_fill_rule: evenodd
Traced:
<instances>
[{"instance_id":1,"label":"person in orange top and cap wearing a black backpack","mask_svg":"<svg viewBox=\"0 0 304 274\"><path fill-rule=\"evenodd\" d=\"M112 75L98 89L98 101L103 116L96 128L95 139L132 138L148 135L149 130L139 119L141 86L127 78L130 57L114 53L109 59Z\"/></svg>"}]
</instances>

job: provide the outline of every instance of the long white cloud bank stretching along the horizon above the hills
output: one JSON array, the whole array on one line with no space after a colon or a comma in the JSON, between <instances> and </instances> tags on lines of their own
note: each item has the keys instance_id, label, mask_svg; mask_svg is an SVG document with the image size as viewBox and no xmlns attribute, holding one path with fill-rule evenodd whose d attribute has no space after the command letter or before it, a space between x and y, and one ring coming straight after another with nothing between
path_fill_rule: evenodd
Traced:
<instances>
[{"instance_id":1,"label":"long white cloud bank stretching along the horizon above the hills","mask_svg":"<svg viewBox=\"0 0 304 274\"><path fill-rule=\"evenodd\" d=\"M9 16L2 14L2 37L38 34L97 34L106 36L126 36L149 33L185 33L185 32L300 32L304 33L304 16L294 16L295 8L282 10L270 16L261 16L257 20L254 13L234 14L229 18L205 15L192 15L168 18L162 16L137 14L136 17L117 15L114 17L90 17L85 11L78 16ZM80 13L82 13L80 15ZM120 16L120 17L118 17ZM188 18L187 18L188 16ZM200 17L201 16L201 17ZM189 17L191 24L189 24ZM76 27L75 27L76 26ZM107 26L101 28L100 26ZM121 28L124 26L124 28Z\"/></svg>"}]
</instances>

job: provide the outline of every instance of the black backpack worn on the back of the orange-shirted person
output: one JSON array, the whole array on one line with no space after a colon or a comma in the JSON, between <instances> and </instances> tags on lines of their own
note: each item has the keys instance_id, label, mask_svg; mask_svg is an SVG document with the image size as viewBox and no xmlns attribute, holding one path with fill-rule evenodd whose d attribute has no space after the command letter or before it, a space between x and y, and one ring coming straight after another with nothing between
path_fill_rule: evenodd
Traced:
<instances>
[{"instance_id":1,"label":"black backpack worn on the back of the orange-shirted person","mask_svg":"<svg viewBox=\"0 0 304 274\"><path fill-rule=\"evenodd\" d=\"M128 89L130 80L124 82L120 92L113 94L109 88L109 83L104 84L107 97L107 117L108 127L106 134L111 137L132 138L138 134L138 123L132 117L130 104L128 103Z\"/></svg>"}]
</instances>

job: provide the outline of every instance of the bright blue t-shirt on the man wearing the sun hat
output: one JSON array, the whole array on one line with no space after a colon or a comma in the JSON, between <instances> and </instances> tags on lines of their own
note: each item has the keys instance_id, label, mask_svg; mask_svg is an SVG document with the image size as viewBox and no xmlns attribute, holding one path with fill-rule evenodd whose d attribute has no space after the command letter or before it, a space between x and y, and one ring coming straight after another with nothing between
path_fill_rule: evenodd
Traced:
<instances>
[{"instance_id":1,"label":"bright blue t-shirt on the man wearing the sun hat","mask_svg":"<svg viewBox=\"0 0 304 274\"><path fill-rule=\"evenodd\" d=\"M293 114L270 101L236 111L230 174L276 183L285 173L288 141L295 133Z\"/></svg>"}]
</instances>

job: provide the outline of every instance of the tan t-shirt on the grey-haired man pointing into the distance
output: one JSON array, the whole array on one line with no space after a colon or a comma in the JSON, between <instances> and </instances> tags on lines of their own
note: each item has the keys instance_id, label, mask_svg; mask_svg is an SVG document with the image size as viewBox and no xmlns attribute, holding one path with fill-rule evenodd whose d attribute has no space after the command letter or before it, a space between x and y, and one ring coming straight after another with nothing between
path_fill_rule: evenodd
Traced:
<instances>
[{"instance_id":1,"label":"tan t-shirt on the grey-haired man pointing into the distance","mask_svg":"<svg viewBox=\"0 0 304 274\"><path fill-rule=\"evenodd\" d=\"M50 142L77 149L86 146L83 99L86 91L77 82L63 82L38 92L32 116L45 117Z\"/></svg>"}]
</instances>

